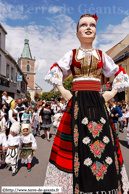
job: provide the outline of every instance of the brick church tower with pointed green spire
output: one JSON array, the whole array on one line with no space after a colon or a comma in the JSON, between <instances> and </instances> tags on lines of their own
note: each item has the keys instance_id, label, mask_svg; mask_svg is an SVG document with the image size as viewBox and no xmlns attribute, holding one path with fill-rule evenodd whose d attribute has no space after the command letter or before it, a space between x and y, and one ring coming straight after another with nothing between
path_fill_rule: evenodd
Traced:
<instances>
[{"instance_id":1,"label":"brick church tower with pointed green spire","mask_svg":"<svg viewBox=\"0 0 129 194\"><path fill-rule=\"evenodd\" d=\"M27 78L27 91L30 93L30 97L34 100L35 92L35 58L32 58L30 47L29 47L29 38L26 33L24 40L24 48L21 54L21 57L18 59L18 64L20 65L23 73Z\"/></svg>"}]
</instances>

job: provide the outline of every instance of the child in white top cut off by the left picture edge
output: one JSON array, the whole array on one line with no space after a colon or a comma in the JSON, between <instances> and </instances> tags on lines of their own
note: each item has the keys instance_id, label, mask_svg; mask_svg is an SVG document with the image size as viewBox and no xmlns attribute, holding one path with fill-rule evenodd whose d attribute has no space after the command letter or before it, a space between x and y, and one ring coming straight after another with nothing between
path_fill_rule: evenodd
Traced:
<instances>
[{"instance_id":1,"label":"child in white top cut off by the left picture edge","mask_svg":"<svg viewBox=\"0 0 129 194\"><path fill-rule=\"evenodd\" d=\"M5 150L7 150L7 139L5 135L5 130L3 126L3 122L0 121L0 166L1 164L4 164L4 167L6 168L7 165L5 163Z\"/></svg>"}]
</instances>

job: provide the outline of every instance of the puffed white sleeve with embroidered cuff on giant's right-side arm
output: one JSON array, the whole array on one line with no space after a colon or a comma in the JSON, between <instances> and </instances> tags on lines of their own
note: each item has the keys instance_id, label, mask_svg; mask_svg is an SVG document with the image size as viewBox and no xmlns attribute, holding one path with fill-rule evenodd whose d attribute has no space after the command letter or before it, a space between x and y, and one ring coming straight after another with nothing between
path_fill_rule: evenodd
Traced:
<instances>
[{"instance_id":1,"label":"puffed white sleeve with embroidered cuff on giant's right-side arm","mask_svg":"<svg viewBox=\"0 0 129 194\"><path fill-rule=\"evenodd\" d=\"M115 76L112 89L118 89L118 92L122 92L129 87L129 76L126 74L124 68L116 65L114 61L104 52L102 72L105 77Z\"/></svg>"}]
</instances>

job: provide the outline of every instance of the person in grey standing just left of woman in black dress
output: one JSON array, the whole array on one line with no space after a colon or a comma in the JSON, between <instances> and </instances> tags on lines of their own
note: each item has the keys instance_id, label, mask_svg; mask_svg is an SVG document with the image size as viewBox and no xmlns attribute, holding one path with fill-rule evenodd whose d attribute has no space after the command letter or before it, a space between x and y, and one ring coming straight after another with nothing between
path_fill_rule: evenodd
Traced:
<instances>
[{"instance_id":1,"label":"person in grey standing just left of woman in black dress","mask_svg":"<svg viewBox=\"0 0 129 194\"><path fill-rule=\"evenodd\" d=\"M40 130L39 130L39 113L38 113L38 108L34 108L34 113L32 116L32 125L33 125L33 135L40 135Z\"/></svg>"}]
</instances>

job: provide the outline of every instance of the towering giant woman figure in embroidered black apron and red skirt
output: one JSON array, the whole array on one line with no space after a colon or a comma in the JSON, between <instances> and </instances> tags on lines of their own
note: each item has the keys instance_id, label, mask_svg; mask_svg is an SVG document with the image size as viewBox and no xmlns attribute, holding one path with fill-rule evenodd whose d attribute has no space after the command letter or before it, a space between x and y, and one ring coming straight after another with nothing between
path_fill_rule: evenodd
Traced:
<instances>
[{"instance_id":1,"label":"towering giant woman figure in embroidered black apron and red skirt","mask_svg":"<svg viewBox=\"0 0 129 194\"><path fill-rule=\"evenodd\" d=\"M45 77L69 101L55 136L44 183L61 186L63 194L127 194L129 189L119 140L105 106L105 101L129 87L129 77L106 53L92 47L97 19L96 15L81 16L77 26L80 48L66 53ZM72 94L62 85L63 76L71 72ZM103 96L101 73L116 76L112 91Z\"/></svg>"}]
</instances>

